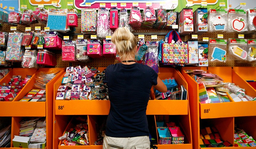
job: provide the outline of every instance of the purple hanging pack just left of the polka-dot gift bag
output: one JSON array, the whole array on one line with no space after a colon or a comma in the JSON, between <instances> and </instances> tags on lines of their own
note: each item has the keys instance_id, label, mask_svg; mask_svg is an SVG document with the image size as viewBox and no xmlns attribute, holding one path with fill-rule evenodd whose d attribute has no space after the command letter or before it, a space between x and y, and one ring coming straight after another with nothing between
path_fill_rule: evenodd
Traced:
<instances>
[{"instance_id":1,"label":"purple hanging pack just left of the polka-dot gift bag","mask_svg":"<svg viewBox=\"0 0 256 149\"><path fill-rule=\"evenodd\" d=\"M158 41L146 43L148 50L145 53L145 65L153 68L158 73Z\"/></svg>"}]
</instances>

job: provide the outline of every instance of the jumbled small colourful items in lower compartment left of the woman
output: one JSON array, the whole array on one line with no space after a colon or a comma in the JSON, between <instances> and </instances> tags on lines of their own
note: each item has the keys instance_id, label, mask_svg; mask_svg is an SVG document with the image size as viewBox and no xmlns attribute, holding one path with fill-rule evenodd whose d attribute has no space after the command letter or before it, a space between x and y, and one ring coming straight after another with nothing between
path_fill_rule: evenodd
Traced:
<instances>
[{"instance_id":1,"label":"jumbled small colourful items in lower compartment left of the woman","mask_svg":"<svg viewBox=\"0 0 256 149\"><path fill-rule=\"evenodd\" d=\"M73 126L69 126L69 128L63 133L63 136L59 137L60 145L89 145L90 132L88 129L87 115L74 116L71 122Z\"/></svg>"}]
</instances>

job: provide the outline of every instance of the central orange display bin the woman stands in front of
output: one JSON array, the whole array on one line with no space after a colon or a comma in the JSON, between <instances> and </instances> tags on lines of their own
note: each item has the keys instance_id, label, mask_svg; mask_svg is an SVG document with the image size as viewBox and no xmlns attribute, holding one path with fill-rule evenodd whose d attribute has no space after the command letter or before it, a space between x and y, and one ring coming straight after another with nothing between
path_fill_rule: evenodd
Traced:
<instances>
[{"instance_id":1,"label":"central orange display bin the woman stands in front of","mask_svg":"<svg viewBox=\"0 0 256 149\"><path fill-rule=\"evenodd\" d=\"M98 70L103 71L105 68L100 67ZM174 77L178 85L183 85L188 90L188 84L184 77L174 68L160 68L158 74L161 79ZM54 84L54 98L57 96L57 90L61 86L62 77L60 77ZM189 115L188 100L156 100L153 89L151 90L151 99L148 101L147 115L179 115L180 122L184 126L184 131L187 136L186 144L183 145L160 145L162 149L173 148L187 148L192 149L191 139L191 123ZM89 146L60 146L58 137L63 135L66 129L69 128L72 115L88 115L90 123L94 121L97 115L108 115L110 108L109 100L55 100L54 102L54 124L53 124L53 148L92 148L101 149L102 145ZM156 123L156 122L154 122ZM67 126L67 127L66 127ZM89 125L90 129L90 125ZM90 129L89 134L94 134L96 130ZM90 137L94 138L95 136ZM94 143L91 142L91 143Z\"/></svg>"}]
</instances>

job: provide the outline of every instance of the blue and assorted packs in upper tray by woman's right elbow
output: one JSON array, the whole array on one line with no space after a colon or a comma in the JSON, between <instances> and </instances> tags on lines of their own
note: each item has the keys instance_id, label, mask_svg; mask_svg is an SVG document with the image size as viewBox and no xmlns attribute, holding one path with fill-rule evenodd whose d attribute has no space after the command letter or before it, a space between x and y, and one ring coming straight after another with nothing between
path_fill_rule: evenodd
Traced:
<instances>
[{"instance_id":1,"label":"blue and assorted packs in upper tray by woman's right elbow","mask_svg":"<svg viewBox=\"0 0 256 149\"><path fill-rule=\"evenodd\" d=\"M167 92L162 93L155 90L156 99L163 100L187 100L188 91L183 85L179 87L174 78L162 80L167 87Z\"/></svg>"}]
</instances>

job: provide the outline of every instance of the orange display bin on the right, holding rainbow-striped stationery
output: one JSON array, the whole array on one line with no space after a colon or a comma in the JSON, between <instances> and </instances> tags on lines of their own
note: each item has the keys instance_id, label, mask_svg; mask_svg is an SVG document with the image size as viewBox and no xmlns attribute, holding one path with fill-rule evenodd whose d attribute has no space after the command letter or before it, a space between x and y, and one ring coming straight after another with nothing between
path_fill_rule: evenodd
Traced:
<instances>
[{"instance_id":1,"label":"orange display bin on the right, holding rainbow-striped stationery","mask_svg":"<svg viewBox=\"0 0 256 149\"><path fill-rule=\"evenodd\" d=\"M256 109L255 104L256 101L248 101L248 102L226 102L226 103L212 103L212 104L201 104L199 102L199 87L197 82L192 79L187 73L185 73L185 69L203 69L208 73L219 75L224 82L232 82L236 85L244 88L246 90L246 94L250 96L256 96L256 92L252 89L249 84L237 75L232 67L184 67L182 68L181 74L184 76L186 81L188 82L188 97L189 97L189 108L191 113L191 128L192 128L192 136L193 136L193 148L200 148L199 145L199 126L200 126L200 118L201 119L216 119L216 121L220 121L218 118L227 118L233 119L238 116L255 116ZM241 107L246 107L246 110L239 110ZM250 112L247 112L250 111ZM208 111L208 112L207 112ZM225 123L224 123L225 124ZM231 126L230 126L231 127ZM234 131L234 127L226 129L230 129L228 135L228 140L234 137L232 131ZM232 129L232 131L231 131ZM221 130L219 130L221 131ZM222 132L221 132L222 133ZM226 135L226 134L225 134ZM234 141L230 142L234 145ZM220 147L221 148L221 147ZM227 148L227 147L225 147ZM233 147L228 147L233 148Z\"/></svg>"}]
</instances>

